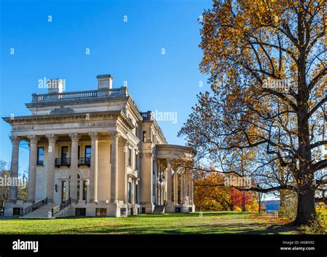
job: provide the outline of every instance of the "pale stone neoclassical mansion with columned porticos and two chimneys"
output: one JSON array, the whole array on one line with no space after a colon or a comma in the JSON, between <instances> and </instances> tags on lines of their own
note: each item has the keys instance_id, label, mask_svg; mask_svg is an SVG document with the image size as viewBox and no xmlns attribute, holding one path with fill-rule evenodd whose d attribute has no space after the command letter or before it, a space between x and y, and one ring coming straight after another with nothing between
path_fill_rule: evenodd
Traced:
<instances>
[{"instance_id":1,"label":"pale stone neoclassical mansion with columned porticos and two chimneys","mask_svg":"<svg viewBox=\"0 0 327 257\"><path fill-rule=\"evenodd\" d=\"M140 112L128 88L112 88L110 74L97 90L32 94L29 116L5 117L12 126L10 176L17 178L19 143L28 142L28 199L11 186L5 216L130 216L194 212L195 152L169 145L152 112Z\"/></svg>"}]
</instances>

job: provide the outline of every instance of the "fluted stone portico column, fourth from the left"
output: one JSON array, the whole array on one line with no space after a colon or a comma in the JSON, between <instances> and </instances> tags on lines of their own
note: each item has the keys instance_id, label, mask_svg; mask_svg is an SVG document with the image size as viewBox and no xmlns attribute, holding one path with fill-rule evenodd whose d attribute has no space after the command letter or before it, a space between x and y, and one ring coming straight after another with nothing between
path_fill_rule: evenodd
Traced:
<instances>
[{"instance_id":1,"label":"fluted stone portico column, fourth from the left","mask_svg":"<svg viewBox=\"0 0 327 257\"><path fill-rule=\"evenodd\" d=\"M81 135L78 133L70 133L72 140L72 154L70 156L70 198L73 203L77 203L79 196L77 196L77 171L79 169L79 138ZM81 188L80 188L81 189Z\"/></svg>"}]
</instances>

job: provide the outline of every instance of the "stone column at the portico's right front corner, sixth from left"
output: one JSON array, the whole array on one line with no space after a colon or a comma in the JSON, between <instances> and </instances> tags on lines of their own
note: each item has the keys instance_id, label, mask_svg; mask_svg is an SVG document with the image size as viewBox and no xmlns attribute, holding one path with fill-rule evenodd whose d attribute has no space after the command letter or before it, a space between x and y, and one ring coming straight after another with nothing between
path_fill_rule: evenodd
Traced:
<instances>
[{"instance_id":1,"label":"stone column at the portico's right front corner, sixth from left","mask_svg":"<svg viewBox=\"0 0 327 257\"><path fill-rule=\"evenodd\" d=\"M111 136L111 174L110 201L118 202L118 136L119 132L110 133Z\"/></svg>"}]
</instances>

